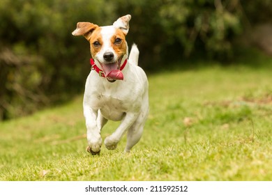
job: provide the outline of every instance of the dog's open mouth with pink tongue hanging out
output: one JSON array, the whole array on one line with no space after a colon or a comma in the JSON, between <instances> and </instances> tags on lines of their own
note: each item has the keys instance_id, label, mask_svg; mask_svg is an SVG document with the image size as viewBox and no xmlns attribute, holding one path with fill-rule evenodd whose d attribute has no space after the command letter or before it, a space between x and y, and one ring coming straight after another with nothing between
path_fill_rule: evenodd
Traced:
<instances>
[{"instance_id":1,"label":"dog's open mouth with pink tongue hanging out","mask_svg":"<svg viewBox=\"0 0 272 195\"><path fill-rule=\"evenodd\" d=\"M105 77L109 82L116 80L123 80L123 73L120 70L121 58L114 63L100 63L101 68L104 72Z\"/></svg>"}]
</instances>

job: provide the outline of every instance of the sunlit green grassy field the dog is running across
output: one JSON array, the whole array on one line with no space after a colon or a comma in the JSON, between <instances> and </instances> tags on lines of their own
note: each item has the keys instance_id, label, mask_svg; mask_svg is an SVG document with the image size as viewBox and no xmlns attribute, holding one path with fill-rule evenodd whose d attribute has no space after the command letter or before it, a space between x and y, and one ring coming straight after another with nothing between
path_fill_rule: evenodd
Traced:
<instances>
[{"instance_id":1,"label":"sunlit green grassy field the dog is running across","mask_svg":"<svg viewBox=\"0 0 272 195\"><path fill-rule=\"evenodd\" d=\"M86 153L82 96L0 123L0 180L272 180L272 60L258 66L149 76L149 120L129 154L126 137Z\"/></svg>"}]
</instances>

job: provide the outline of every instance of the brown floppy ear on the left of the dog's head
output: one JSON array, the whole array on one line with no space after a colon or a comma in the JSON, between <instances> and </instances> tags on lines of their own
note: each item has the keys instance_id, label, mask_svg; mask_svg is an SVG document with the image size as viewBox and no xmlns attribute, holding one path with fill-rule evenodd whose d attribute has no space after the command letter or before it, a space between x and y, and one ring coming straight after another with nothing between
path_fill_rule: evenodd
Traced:
<instances>
[{"instance_id":1,"label":"brown floppy ear on the left of the dog's head","mask_svg":"<svg viewBox=\"0 0 272 195\"><path fill-rule=\"evenodd\" d=\"M91 33L98 27L98 25L90 22L77 22L77 29L73 31L73 36L84 36L86 40L91 38Z\"/></svg>"}]
</instances>

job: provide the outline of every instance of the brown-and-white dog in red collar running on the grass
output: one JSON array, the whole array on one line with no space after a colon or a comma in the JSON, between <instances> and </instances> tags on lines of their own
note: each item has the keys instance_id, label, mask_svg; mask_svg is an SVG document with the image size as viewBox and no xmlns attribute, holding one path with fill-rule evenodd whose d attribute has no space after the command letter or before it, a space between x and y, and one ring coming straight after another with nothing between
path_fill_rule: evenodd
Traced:
<instances>
[{"instance_id":1,"label":"brown-and-white dog in red collar running on the grass","mask_svg":"<svg viewBox=\"0 0 272 195\"><path fill-rule=\"evenodd\" d=\"M108 150L114 150L127 131L125 152L142 137L149 114L149 82L138 66L139 49L133 44L128 58L126 35L131 15L125 15L111 26L78 22L73 36L84 36L91 48L91 72L86 79L83 109L86 120L86 150L100 153L100 132L108 120L119 121L119 127L105 138Z\"/></svg>"}]
</instances>

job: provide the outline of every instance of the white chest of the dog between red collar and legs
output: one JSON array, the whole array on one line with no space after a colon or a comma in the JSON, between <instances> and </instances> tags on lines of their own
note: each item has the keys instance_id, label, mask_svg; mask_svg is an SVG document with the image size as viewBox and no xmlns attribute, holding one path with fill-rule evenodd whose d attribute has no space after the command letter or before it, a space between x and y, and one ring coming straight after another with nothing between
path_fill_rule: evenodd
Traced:
<instances>
[{"instance_id":1,"label":"white chest of the dog between red collar and legs","mask_svg":"<svg viewBox=\"0 0 272 195\"><path fill-rule=\"evenodd\" d=\"M84 98L84 102L91 108L99 109L108 120L121 120L127 112L139 111L143 91L136 86L139 82L116 81L111 84L101 79L96 80L92 76L87 81ZM131 78L133 75L130 75L130 80Z\"/></svg>"}]
</instances>

